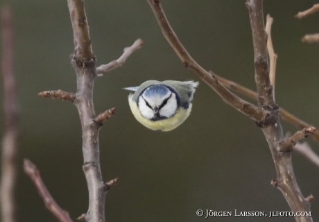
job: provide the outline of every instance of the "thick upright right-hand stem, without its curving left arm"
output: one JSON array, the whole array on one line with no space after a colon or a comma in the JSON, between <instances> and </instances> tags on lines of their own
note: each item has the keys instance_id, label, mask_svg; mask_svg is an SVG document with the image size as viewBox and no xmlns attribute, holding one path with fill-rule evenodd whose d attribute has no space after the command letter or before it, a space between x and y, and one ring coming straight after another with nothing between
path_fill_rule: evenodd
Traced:
<instances>
[{"instance_id":1,"label":"thick upright right-hand stem, without its curving left arm","mask_svg":"<svg viewBox=\"0 0 319 222\"><path fill-rule=\"evenodd\" d=\"M248 7L252 28L258 101L259 105L269 111L266 121L261 123L261 128L268 142L277 171L277 179L272 183L282 191L293 212L310 212L309 200L302 196L293 172L292 147L289 147L286 151L280 149L285 139L279 121L279 108L274 102L273 88L270 85L263 1L248 0L246 6ZM311 216L295 216L295 220L298 222L312 221L312 218Z\"/></svg>"}]
</instances>

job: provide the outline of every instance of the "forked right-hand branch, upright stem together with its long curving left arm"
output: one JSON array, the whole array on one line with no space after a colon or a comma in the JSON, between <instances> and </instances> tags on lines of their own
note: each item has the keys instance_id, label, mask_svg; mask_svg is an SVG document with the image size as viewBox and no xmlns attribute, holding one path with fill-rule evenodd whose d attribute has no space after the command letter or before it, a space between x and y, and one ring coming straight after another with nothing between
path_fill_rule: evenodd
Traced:
<instances>
[{"instance_id":1,"label":"forked right-hand branch, upright stem together with its long curving left arm","mask_svg":"<svg viewBox=\"0 0 319 222\"><path fill-rule=\"evenodd\" d=\"M232 105L234 108L236 108L236 110L243 112L243 110L238 108L236 103L240 101L241 103L244 102L247 104L247 102L239 99L238 97L232 96L233 94L229 94L228 90L224 90L225 87L218 81L218 79L214 75L210 76L207 71L202 69L202 67L200 67L184 49L182 44L179 42L178 37L175 35L171 26L169 25L166 16L164 15L162 6L160 6L160 0L148 0L148 3L153 9L164 37L166 37L166 40L169 42L169 44L171 44L175 53L177 53L179 58L182 60L183 65L200 76L200 78L202 78L207 85L212 87L226 103ZM275 167L277 171L277 180L275 181L277 187L286 197L286 200L291 206L293 212L309 212L309 202L302 196L293 174L291 153L282 154L276 149L279 142L284 141L284 136L282 135L282 127L280 126L279 122L279 108L275 104L273 86L270 84L269 78L268 51L266 47L267 36L264 29L262 1L247 1L246 5L248 6L250 12L250 24L252 26L252 38L255 53L255 80L258 93L257 99L260 105L259 108L256 108L255 105L250 106L250 108L252 108L252 114L255 114L254 117L257 117L257 119L259 117L260 110L262 110L262 121L261 119L258 120L262 126L264 135L275 161ZM232 98L232 100L229 98ZM247 112L243 113L247 114ZM254 117L252 119L254 119ZM300 217L295 219L296 221L312 221L311 217Z\"/></svg>"}]
</instances>

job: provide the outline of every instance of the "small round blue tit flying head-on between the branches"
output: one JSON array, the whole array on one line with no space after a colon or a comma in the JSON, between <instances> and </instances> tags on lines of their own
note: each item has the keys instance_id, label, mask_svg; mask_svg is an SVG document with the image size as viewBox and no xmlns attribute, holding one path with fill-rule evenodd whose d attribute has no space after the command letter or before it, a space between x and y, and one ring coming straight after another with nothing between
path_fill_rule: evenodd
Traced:
<instances>
[{"instance_id":1,"label":"small round blue tit flying head-on between the branches","mask_svg":"<svg viewBox=\"0 0 319 222\"><path fill-rule=\"evenodd\" d=\"M180 126L191 113L193 94L198 82L148 80L128 96L134 117L151 130L169 131Z\"/></svg>"}]
</instances>

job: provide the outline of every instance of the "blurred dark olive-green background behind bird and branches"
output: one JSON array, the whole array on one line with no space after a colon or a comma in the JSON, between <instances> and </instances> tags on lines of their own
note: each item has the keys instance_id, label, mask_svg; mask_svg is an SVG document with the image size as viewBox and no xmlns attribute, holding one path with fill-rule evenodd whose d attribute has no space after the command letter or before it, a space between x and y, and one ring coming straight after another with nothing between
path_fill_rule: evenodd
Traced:
<instances>
[{"instance_id":1,"label":"blurred dark olive-green background behind bird and branches","mask_svg":"<svg viewBox=\"0 0 319 222\"><path fill-rule=\"evenodd\" d=\"M49 89L76 91L76 76L69 64L74 44L67 1L1 0L4 3L10 4L14 16L21 111L17 218L57 221L22 171L23 159L29 158L37 164L55 200L75 219L87 211L88 203L78 112L69 102L37 96ZM276 101L319 126L319 44L300 42L304 34L319 33L319 13L294 18L314 3L317 1L266 0L264 14L275 19ZM162 6L180 41L202 67L255 89L244 0L163 0ZM137 38L144 40L143 48L126 65L95 82L96 112L117 108L100 132L103 178L120 178L106 196L107 221L205 221L196 216L198 209L289 211L284 196L270 185L275 167L261 130L223 103L205 83L200 82L196 91L191 116L177 129L153 132L135 120L123 87L149 79L199 80L184 69L164 40L146 0L86 1L86 12L98 65L119 58L123 48ZM0 114L3 126L2 110ZM298 130L288 123L282 125L285 133ZM318 151L318 143L307 141ZM304 196L318 198L318 167L298 153L293 154L293 165ZM311 205L315 221L318 207L315 200ZM290 217L209 218L221 220L294 221Z\"/></svg>"}]
</instances>

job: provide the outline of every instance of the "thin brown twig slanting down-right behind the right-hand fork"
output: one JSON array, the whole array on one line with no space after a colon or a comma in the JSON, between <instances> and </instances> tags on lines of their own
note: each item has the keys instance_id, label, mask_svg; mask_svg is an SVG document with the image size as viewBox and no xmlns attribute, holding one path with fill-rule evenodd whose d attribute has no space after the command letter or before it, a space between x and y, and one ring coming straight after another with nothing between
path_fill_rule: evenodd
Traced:
<instances>
[{"instance_id":1,"label":"thin brown twig slanting down-right behind the right-hand fork","mask_svg":"<svg viewBox=\"0 0 319 222\"><path fill-rule=\"evenodd\" d=\"M209 71L209 73L214 74L212 71ZM227 78L223 78L221 76L217 76L218 80L225 85L228 89L232 89L236 92L239 92L245 96L249 96L252 99L257 100L257 92L252 91L251 89L248 89L246 87L243 87L242 85L239 85L238 83L233 82L232 80L228 80ZM279 108L279 115L284 119L284 121L287 121L288 123L293 124L294 126L303 129L303 128L309 128L312 125L309 123L306 123L305 121L302 121L298 117L295 117L293 114L285 110L284 108ZM316 132L313 133L313 139L316 139L317 142L319 142L319 130L316 130Z\"/></svg>"}]
</instances>

